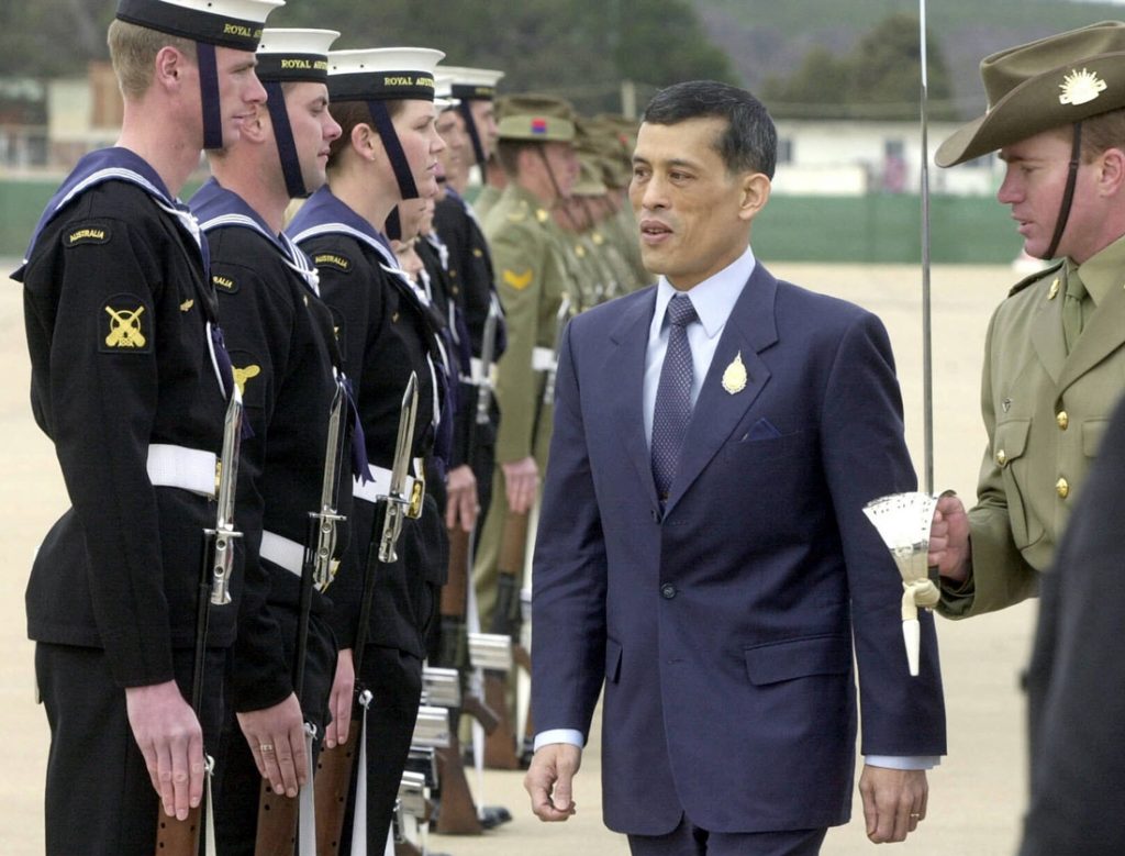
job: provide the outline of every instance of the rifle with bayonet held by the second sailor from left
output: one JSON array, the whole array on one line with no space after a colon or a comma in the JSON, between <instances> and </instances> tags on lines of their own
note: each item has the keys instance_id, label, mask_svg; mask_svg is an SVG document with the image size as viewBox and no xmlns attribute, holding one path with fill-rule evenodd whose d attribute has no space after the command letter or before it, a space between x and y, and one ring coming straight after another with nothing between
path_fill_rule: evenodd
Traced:
<instances>
[{"instance_id":1,"label":"rifle with bayonet held by the second sailor from left","mask_svg":"<svg viewBox=\"0 0 1125 856\"><path fill-rule=\"evenodd\" d=\"M336 550L336 525L344 520L336 512L336 490L340 481L346 423L343 414L348 396L343 382L336 381L332 406L328 408L328 434L324 450L324 475L321 480L320 511L309 512L305 532L305 556L300 573L300 602L297 613L297 645L292 663L292 687L297 701L304 706L305 657L308 650L308 624L313 607L313 588L323 592L332 583L332 558ZM305 723L305 748L309 763L316 727ZM254 853L258 856L291 854L294 845L300 856L316 853L316 813L314 787L309 781L296 799L273 793L268 781L262 782L258 803L258 834ZM298 826L298 818L304 822Z\"/></svg>"}]
</instances>

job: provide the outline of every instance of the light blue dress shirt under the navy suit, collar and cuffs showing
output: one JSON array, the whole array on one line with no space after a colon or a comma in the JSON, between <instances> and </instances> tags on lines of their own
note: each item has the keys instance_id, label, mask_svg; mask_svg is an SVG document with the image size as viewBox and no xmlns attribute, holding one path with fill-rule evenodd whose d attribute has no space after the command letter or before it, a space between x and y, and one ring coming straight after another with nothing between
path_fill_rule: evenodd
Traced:
<instances>
[{"instance_id":1,"label":"light blue dress shirt under the navy suit, collar and cuffs showing","mask_svg":"<svg viewBox=\"0 0 1125 856\"><path fill-rule=\"evenodd\" d=\"M700 389L703 387L703 379L711 368L711 360L719 348L723 327L727 319L735 309L742 289L746 287L757 261L749 246L746 252L736 259L731 264L710 277L687 291L699 323L687 325L687 342L692 348L692 406L699 399ZM652 442L652 412L656 408L656 389L660 382L660 369L664 367L664 354L668 350L668 319L667 309L673 296L676 294L675 287L667 279L660 277L656 283L656 308L652 313L652 323L648 331L648 348L645 352L645 387L644 387L644 418L645 436L649 444ZM534 748L538 750L549 744L570 744L582 747L585 738L582 731L570 728L556 728L541 731L536 735ZM886 756L868 755L864 758L872 767L889 767L891 769L930 769L940 763L938 756Z\"/></svg>"}]
</instances>

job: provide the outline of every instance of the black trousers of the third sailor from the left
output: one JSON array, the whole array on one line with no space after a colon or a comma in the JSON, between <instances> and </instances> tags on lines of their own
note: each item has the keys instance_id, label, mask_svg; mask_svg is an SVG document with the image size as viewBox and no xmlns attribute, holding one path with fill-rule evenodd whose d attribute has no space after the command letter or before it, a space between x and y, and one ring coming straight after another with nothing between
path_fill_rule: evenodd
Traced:
<instances>
[{"instance_id":1,"label":"black trousers of the third sailor from the left","mask_svg":"<svg viewBox=\"0 0 1125 856\"><path fill-rule=\"evenodd\" d=\"M367 646L360 668L362 674L357 681L372 695L367 713L367 850L381 854L387 846L398 785L418 714L422 660L397 648ZM348 739L358 737L353 735ZM353 769L358 773L359 765ZM351 848L354 808L356 775L348 796L340 853L349 853Z\"/></svg>"}]
</instances>

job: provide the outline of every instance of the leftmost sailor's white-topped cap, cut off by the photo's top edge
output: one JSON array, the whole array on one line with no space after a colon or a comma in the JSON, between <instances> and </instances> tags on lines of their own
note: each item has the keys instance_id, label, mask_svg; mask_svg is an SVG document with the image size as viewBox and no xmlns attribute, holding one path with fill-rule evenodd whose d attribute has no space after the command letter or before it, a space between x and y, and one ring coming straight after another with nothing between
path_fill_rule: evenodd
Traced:
<instances>
[{"instance_id":1,"label":"leftmost sailor's white-topped cap, cut off by the photo's top edge","mask_svg":"<svg viewBox=\"0 0 1125 856\"><path fill-rule=\"evenodd\" d=\"M118 0L117 18L192 42L253 51L285 0Z\"/></svg>"}]
</instances>

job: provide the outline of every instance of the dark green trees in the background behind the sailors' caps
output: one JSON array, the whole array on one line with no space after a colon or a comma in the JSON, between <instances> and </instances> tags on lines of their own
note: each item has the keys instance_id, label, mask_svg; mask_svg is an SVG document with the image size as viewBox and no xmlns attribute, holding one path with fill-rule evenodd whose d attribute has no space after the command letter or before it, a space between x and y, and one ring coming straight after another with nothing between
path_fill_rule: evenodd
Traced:
<instances>
[{"instance_id":1,"label":"dark green trees in the background behind the sailors' caps","mask_svg":"<svg viewBox=\"0 0 1125 856\"><path fill-rule=\"evenodd\" d=\"M107 58L117 0L0 7L0 75L80 75L90 60ZM290 0L269 26L338 29L336 48L438 47L450 65L503 69L506 91L549 91L588 112L619 109L623 79L737 82L692 0Z\"/></svg>"}]
</instances>

